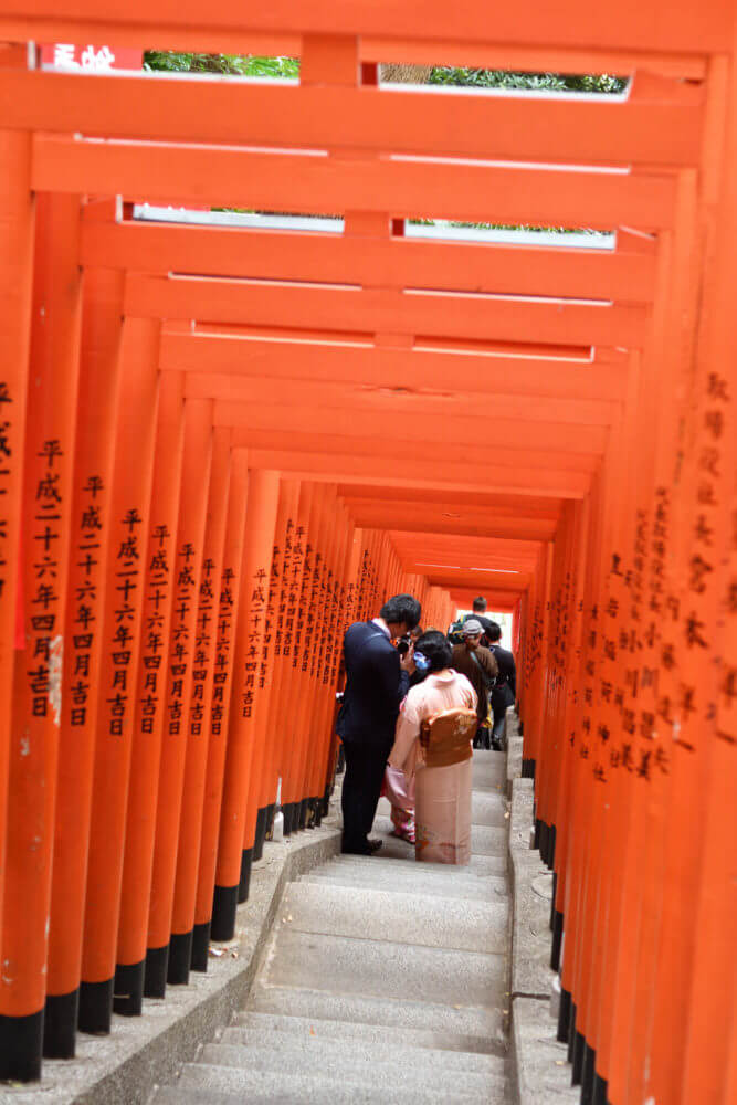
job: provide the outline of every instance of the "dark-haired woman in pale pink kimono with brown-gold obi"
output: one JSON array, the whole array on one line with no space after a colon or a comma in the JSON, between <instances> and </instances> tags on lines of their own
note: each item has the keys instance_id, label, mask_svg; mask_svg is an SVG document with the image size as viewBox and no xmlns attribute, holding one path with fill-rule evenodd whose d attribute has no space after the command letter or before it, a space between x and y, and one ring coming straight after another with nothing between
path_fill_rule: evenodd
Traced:
<instances>
[{"instance_id":1,"label":"dark-haired woman in pale pink kimono with brown-gold obi","mask_svg":"<svg viewBox=\"0 0 737 1105\"><path fill-rule=\"evenodd\" d=\"M443 633L429 630L414 646L428 677L401 705L389 766L414 779L417 860L466 864L471 860L471 757L476 692L453 671Z\"/></svg>"}]
</instances>

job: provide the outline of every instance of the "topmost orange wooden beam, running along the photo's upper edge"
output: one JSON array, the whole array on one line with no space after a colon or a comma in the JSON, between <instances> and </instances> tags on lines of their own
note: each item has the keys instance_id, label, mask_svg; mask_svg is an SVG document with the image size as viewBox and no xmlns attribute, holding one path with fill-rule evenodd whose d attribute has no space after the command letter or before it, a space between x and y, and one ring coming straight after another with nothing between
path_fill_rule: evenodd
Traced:
<instances>
[{"instance_id":1,"label":"topmost orange wooden beam, running along the photo's upper edge","mask_svg":"<svg viewBox=\"0 0 737 1105\"><path fill-rule=\"evenodd\" d=\"M306 31L326 35L373 34L387 38L444 42L449 31L448 6L442 0L409 0L398 9L392 0L344 0L339 9L315 6L310 0L273 0L267 9L248 8L238 0L223 0L213 8L204 2L150 4L146 0L108 3L101 17L97 0L75 0L73 9L59 11L54 0L14 0L0 22L2 36L56 42L150 42L158 46L199 43L199 49L239 50L248 43L244 32L266 35ZM418 34L421 28L421 34ZM611 13L585 0L565 0L541 7L535 20L519 7L494 12L489 20L484 0L464 0L453 9L453 34L457 40L501 44L524 42L576 49L652 50L654 40L663 52L685 53L724 49L730 41L731 6L693 4L691 0L642 0ZM131 38L135 35L135 38Z\"/></svg>"}]
</instances>

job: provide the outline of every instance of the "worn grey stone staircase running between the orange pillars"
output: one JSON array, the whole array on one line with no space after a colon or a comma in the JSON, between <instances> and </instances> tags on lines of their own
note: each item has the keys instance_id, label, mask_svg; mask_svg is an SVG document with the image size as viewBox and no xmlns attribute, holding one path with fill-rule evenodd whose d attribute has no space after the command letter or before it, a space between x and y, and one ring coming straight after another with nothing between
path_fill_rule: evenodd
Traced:
<instances>
[{"instance_id":1,"label":"worn grey stone staircase running between the orange pillars","mask_svg":"<svg viewBox=\"0 0 737 1105\"><path fill-rule=\"evenodd\" d=\"M248 1008L150 1105L497 1105L508 1010L505 758L474 753L467 867L376 856L291 883Z\"/></svg>"}]
</instances>

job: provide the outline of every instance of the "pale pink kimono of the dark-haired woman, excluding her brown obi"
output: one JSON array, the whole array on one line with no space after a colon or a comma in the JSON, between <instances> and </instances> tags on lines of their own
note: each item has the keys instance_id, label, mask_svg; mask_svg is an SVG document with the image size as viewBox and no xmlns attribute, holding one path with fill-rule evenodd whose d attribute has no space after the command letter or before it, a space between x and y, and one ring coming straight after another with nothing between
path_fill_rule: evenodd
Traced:
<instances>
[{"instance_id":1,"label":"pale pink kimono of the dark-haired woman, excluding her brown obi","mask_svg":"<svg viewBox=\"0 0 737 1105\"><path fill-rule=\"evenodd\" d=\"M472 761L428 767L420 744L423 722L459 707L476 708L476 692L465 675L450 667L428 675L401 705L389 754L389 766L404 771L408 789L414 778L414 857L428 863L466 864L471 860Z\"/></svg>"}]
</instances>

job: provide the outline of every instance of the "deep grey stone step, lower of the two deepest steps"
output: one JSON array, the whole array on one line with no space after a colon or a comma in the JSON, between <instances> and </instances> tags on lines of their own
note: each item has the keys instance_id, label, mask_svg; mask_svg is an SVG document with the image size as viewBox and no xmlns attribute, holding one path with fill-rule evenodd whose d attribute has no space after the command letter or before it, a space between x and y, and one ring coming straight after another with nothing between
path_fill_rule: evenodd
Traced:
<instances>
[{"instance_id":1,"label":"deep grey stone step, lower of the two deepest steps","mask_svg":"<svg viewBox=\"0 0 737 1105\"><path fill-rule=\"evenodd\" d=\"M408 917L408 925L411 925ZM503 955L278 932L264 981L377 998L492 1006L506 990Z\"/></svg>"}]
</instances>

